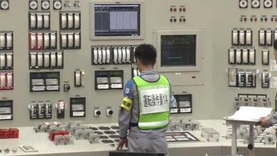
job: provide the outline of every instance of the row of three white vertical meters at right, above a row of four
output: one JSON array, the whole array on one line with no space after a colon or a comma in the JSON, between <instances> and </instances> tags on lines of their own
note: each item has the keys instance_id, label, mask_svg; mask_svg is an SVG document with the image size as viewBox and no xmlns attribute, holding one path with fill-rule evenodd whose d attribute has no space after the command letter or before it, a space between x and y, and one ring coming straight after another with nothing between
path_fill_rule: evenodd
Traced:
<instances>
[{"instance_id":1,"label":"row of three white vertical meters at right, above a row of four","mask_svg":"<svg viewBox=\"0 0 277 156\"><path fill-rule=\"evenodd\" d=\"M251 46L252 45L252 30L233 29L232 45L233 46Z\"/></svg>"}]
</instances>

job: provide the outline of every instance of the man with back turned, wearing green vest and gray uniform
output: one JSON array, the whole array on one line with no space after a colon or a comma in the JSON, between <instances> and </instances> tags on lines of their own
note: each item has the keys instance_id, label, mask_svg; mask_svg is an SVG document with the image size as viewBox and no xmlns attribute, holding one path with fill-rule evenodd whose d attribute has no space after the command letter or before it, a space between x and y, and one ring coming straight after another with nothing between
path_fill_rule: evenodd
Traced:
<instances>
[{"instance_id":1,"label":"man with back turned, wearing green vest and gray uniform","mask_svg":"<svg viewBox=\"0 0 277 156\"><path fill-rule=\"evenodd\" d=\"M125 145L129 152L168 156L166 130L170 107L176 103L170 83L154 70L157 58L154 46L137 46L134 57L141 74L125 85L118 117L120 141L117 150Z\"/></svg>"}]
</instances>

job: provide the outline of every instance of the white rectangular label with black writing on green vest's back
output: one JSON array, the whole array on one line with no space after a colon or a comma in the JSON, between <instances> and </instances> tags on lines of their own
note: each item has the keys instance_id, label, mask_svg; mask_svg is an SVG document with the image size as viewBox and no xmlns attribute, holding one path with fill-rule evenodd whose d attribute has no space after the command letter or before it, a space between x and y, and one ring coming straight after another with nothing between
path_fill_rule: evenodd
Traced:
<instances>
[{"instance_id":1,"label":"white rectangular label with black writing on green vest's back","mask_svg":"<svg viewBox=\"0 0 277 156\"><path fill-rule=\"evenodd\" d=\"M141 114L152 114L169 111L169 89L143 89L141 90Z\"/></svg>"}]
</instances>

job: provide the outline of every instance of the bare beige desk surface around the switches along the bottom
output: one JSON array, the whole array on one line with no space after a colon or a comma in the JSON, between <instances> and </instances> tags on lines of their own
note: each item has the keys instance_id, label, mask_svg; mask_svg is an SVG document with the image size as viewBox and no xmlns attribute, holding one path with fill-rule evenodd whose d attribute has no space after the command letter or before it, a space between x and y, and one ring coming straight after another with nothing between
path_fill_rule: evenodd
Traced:
<instances>
[{"instance_id":1,"label":"bare beige desk surface around the switches along the bottom","mask_svg":"<svg viewBox=\"0 0 277 156\"><path fill-rule=\"evenodd\" d=\"M226 121L224 120L199 120L202 128L214 128L217 132L220 132L220 141L218 142L207 142L201 137L201 130L188 131L201 141L190 142L190 143L169 143L169 148L194 148L194 147L218 147L218 146L231 146L231 139L226 139ZM101 124L103 125L103 124ZM108 124L116 125L116 124ZM100 124L93 124L92 126L100 126ZM0 139L0 149L15 148L19 145L33 146L39 152L35 153L24 153L21 149L17 149L17 153L0 155L51 155L59 153L93 153L101 151L116 150L116 147L111 147L108 144L100 142L99 144L90 144L87 140L74 140L72 145L56 146L52 141L48 139L48 133L38 132L35 133L33 127L19 127L19 139ZM242 140L238 140L239 147L246 147L247 144L243 144ZM263 143L256 143L256 147L260 148L276 148L276 145L265 145Z\"/></svg>"}]
</instances>

